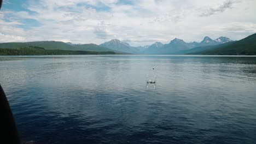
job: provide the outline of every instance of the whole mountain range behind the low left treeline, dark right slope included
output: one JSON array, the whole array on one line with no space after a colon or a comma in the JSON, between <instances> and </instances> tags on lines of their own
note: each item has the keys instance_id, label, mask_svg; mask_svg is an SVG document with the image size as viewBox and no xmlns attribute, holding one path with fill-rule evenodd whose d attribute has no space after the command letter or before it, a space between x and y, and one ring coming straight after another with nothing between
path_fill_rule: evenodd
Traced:
<instances>
[{"instance_id":1,"label":"whole mountain range behind the low left treeline, dark right slope included","mask_svg":"<svg viewBox=\"0 0 256 144\"><path fill-rule=\"evenodd\" d=\"M0 43L0 49L19 49L24 47L42 47L45 50L69 50L69 51L96 51L133 54L202 54L202 55L253 55L256 53L256 34L233 41L226 37L215 40L210 37L203 38L199 43L194 41L186 43L182 39L175 38L168 44L155 42L147 46L131 46L128 43L113 39L103 44L72 44L61 41L33 41L26 43ZM225 49L225 50L224 50ZM218 50L218 51L216 51ZM255 54L256 55L256 54Z\"/></svg>"}]
</instances>

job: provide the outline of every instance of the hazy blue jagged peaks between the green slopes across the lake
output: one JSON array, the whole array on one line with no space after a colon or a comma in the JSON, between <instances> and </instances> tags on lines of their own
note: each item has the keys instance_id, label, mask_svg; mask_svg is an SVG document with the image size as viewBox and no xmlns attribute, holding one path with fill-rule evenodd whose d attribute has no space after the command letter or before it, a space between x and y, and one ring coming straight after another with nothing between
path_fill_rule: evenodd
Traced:
<instances>
[{"instance_id":1,"label":"hazy blue jagged peaks between the green slopes across the lake","mask_svg":"<svg viewBox=\"0 0 256 144\"><path fill-rule=\"evenodd\" d=\"M118 39L112 39L107 41L100 46L106 47L110 50L121 51L127 53L135 53L135 54L177 54L180 51L185 51L189 49L193 49L194 47L199 46L210 46L210 45L218 45L228 43L232 40L226 37L219 37L216 40L211 39L210 37L205 37L200 43L192 42L186 43L182 39L175 38L170 41L168 44L162 44L160 42L156 42L149 46L130 46L129 44L120 41Z\"/></svg>"}]
</instances>

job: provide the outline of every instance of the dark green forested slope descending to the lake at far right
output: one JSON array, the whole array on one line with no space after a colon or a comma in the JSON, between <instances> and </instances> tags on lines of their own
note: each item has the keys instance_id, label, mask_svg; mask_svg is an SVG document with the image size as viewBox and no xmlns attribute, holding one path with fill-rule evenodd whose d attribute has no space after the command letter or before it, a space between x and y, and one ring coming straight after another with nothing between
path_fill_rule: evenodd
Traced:
<instances>
[{"instance_id":1,"label":"dark green forested slope descending to the lake at far right","mask_svg":"<svg viewBox=\"0 0 256 144\"><path fill-rule=\"evenodd\" d=\"M200 51L188 53L197 55L256 55L256 33L238 41L201 47Z\"/></svg>"}]
</instances>

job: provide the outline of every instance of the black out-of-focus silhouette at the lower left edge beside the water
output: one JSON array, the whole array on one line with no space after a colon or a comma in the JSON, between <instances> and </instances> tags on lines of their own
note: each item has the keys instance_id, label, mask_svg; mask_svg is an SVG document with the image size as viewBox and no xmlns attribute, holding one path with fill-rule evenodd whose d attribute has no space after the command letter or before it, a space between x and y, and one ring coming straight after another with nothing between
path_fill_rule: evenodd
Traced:
<instances>
[{"instance_id":1,"label":"black out-of-focus silhouette at the lower left edge beside the water","mask_svg":"<svg viewBox=\"0 0 256 144\"><path fill-rule=\"evenodd\" d=\"M14 122L13 113L11 113L7 98L3 88L0 85L0 134L1 141L6 143L20 143L18 131Z\"/></svg>"}]
</instances>

